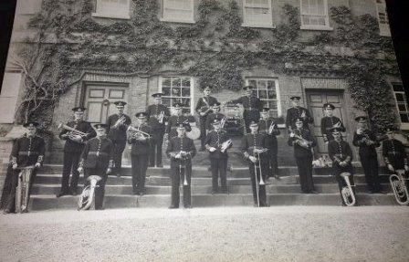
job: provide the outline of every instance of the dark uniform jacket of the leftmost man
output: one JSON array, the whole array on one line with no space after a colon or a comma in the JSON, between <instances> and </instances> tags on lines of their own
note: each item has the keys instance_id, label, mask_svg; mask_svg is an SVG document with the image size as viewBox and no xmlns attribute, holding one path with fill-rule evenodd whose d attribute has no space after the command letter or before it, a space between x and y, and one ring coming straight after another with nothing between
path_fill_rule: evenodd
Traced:
<instances>
[{"instance_id":1,"label":"dark uniform jacket of the leftmost man","mask_svg":"<svg viewBox=\"0 0 409 262\"><path fill-rule=\"evenodd\" d=\"M11 152L12 164L18 167L34 165L44 161L46 143L39 136L27 137L26 135L17 139Z\"/></svg>"}]
</instances>

